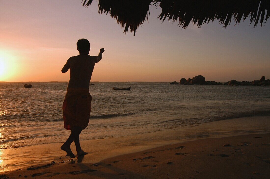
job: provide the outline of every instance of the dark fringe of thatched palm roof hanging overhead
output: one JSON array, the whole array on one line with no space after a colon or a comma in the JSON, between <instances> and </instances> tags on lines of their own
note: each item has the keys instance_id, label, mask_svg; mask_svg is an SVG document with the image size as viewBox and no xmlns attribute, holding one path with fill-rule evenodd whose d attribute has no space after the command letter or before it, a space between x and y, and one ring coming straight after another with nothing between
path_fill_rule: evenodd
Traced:
<instances>
[{"instance_id":1,"label":"dark fringe of thatched palm roof hanging overhead","mask_svg":"<svg viewBox=\"0 0 270 179\"><path fill-rule=\"evenodd\" d=\"M93 0L83 0L89 6ZM227 27L233 19L236 24L250 16L250 24L262 24L270 16L270 0L98 0L99 13L110 13L116 22L136 33L137 28L148 20L150 5L160 6L159 19L179 22L183 29L192 22L198 27L218 20Z\"/></svg>"}]
</instances>

